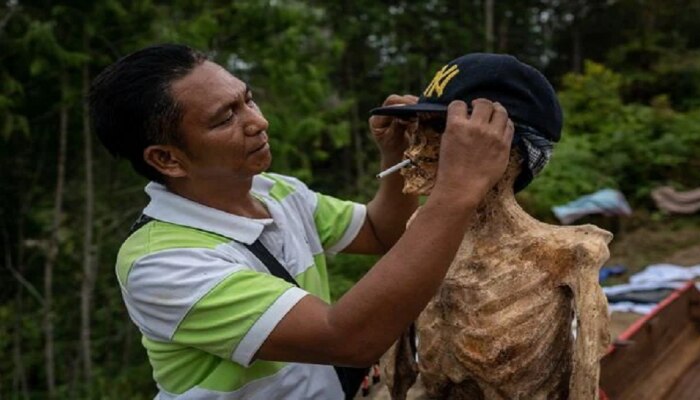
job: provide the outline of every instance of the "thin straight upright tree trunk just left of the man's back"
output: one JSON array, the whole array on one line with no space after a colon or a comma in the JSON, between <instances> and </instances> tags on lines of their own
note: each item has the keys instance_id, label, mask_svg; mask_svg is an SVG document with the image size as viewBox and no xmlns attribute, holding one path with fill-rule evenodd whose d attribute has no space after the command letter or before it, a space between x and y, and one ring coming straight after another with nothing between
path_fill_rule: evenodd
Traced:
<instances>
[{"instance_id":1,"label":"thin straight upright tree trunk just left of the man's back","mask_svg":"<svg viewBox=\"0 0 700 400\"><path fill-rule=\"evenodd\" d=\"M87 35L85 38L87 38ZM83 141L85 146L85 226L83 236L83 281L80 288L80 345L83 379L85 380L84 383L87 388L88 398L91 398L92 352L90 340L90 310L92 308L92 294L95 289L96 265L93 257L94 185L92 174L92 136L90 132L87 102L90 76L87 64L84 64L82 67L82 85Z\"/></svg>"}]
</instances>

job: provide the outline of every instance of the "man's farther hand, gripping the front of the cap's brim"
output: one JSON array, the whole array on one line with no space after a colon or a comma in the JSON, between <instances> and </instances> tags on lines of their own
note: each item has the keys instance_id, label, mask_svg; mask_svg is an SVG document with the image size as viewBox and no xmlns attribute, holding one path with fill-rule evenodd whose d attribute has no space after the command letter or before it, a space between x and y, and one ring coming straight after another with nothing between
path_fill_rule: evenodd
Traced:
<instances>
[{"instance_id":1,"label":"man's farther hand, gripping the front of the cap's brim","mask_svg":"<svg viewBox=\"0 0 700 400\"><path fill-rule=\"evenodd\" d=\"M406 94L399 96L392 94L384 100L383 107L396 106L401 107L407 104L416 104L418 97ZM398 160L403 157L403 152L408 146L406 131L410 128L415 129L415 120L404 120L385 115L374 115L369 119L369 127L372 131L372 136L379 146L382 156L392 160Z\"/></svg>"}]
</instances>

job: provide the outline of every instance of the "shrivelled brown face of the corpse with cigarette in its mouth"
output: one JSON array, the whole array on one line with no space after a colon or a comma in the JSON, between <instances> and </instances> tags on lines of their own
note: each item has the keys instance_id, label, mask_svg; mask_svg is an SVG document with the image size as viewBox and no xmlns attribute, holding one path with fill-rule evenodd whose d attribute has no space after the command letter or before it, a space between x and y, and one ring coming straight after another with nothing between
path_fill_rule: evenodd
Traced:
<instances>
[{"instance_id":1,"label":"shrivelled brown face of the corpse with cigarette in its mouth","mask_svg":"<svg viewBox=\"0 0 700 400\"><path fill-rule=\"evenodd\" d=\"M418 124L408 130L409 145L404 157L413 164L401 169L404 193L427 195L435 186L444 119L444 115L422 113Z\"/></svg>"}]
</instances>

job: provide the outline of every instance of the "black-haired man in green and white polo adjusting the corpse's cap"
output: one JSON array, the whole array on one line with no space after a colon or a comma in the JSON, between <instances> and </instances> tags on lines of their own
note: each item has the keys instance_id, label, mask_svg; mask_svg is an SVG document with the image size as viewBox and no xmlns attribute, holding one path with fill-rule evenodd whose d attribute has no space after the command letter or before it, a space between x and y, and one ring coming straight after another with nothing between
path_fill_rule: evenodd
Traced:
<instances>
[{"instance_id":1,"label":"black-haired man in green and white polo adjusting the corpse's cap","mask_svg":"<svg viewBox=\"0 0 700 400\"><path fill-rule=\"evenodd\" d=\"M148 218L116 269L162 399L343 398L329 365L371 364L425 307L513 134L500 104L478 99L468 114L452 102L437 183L404 232L417 200L398 174L364 206L264 173L268 124L252 92L190 48L122 58L95 79L90 102L102 143L153 181ZM405 123L370 125L382 166L400 161ZM339 251L385 255L330 305L323 254ZM293 282L270 274L270 258Z\"/></svg>"}]
</instances>

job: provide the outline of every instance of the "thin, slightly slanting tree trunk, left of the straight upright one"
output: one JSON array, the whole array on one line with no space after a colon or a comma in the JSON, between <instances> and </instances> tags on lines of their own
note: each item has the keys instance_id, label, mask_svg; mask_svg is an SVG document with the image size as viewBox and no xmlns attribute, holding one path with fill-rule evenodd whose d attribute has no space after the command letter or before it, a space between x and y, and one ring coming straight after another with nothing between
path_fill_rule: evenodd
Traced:
<instances>
[{"instance_id":1,"label":"thin, slightly slanting tree trunk, left of the straight upright one","mask_svg":"<svg viewBox=\"0 0 700 400\"><path fill-rule=\"evenodd\" d=\"M63 192L66 169L66 147L68 141L68 103L66 101L67 82L65 72L61 74L62 101L59 116L59 146L56 163L56 193L54 196L53 223L51 226L46 262L44 263L44 362L46 363L46 387L48 397L56 398L56 366L53 342L53 268L58 256L59 229L63 212Z\"/></svg>"}]
</instances>

